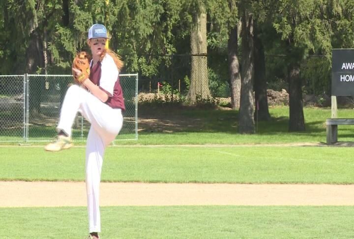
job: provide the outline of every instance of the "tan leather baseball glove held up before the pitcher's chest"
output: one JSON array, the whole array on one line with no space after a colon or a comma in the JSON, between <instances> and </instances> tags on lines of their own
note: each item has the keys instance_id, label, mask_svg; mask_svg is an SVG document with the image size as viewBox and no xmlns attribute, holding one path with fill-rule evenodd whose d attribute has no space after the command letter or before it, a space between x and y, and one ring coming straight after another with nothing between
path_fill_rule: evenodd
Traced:
<instances>
[{"instance_id":1,"label":"tan leather baseball glove held up before the pitcher's chest","mask_svg":"<svg viewBox=\"0 0 354 239\"><path fill-rule=\"evenodd\" d=\"M85 79L89 78L89 60L90 56L87 52L79 52L73 60L72 68L76 68L81 71L81 74L76 75L76 72L72 70L75 83L81 84Z\"/></svg>"}]
</instances>

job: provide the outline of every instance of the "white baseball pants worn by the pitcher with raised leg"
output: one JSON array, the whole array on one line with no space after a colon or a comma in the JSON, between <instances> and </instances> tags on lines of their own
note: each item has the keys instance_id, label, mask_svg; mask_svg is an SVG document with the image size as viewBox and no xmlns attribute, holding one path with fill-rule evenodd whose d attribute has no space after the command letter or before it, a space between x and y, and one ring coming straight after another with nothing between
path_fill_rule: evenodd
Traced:
<instances>
[{"instance_id":1,"label":"white baseball pants worn by the pitcher with raised leg","mask_svg":"<svg viewBox=\"0 0 354 239\"><path fill-rule=\"evenodd\" d=\"M67 90L61 107L58 132L63 130L71 137L71 127L77 112L90 123L86 147L86 191L89 213L89 233L101 232L99 211L99 184L103 154L116 138L123 117L120 109L113 109L87 90L73 85Z\"/></svg>"}]
</instances>

